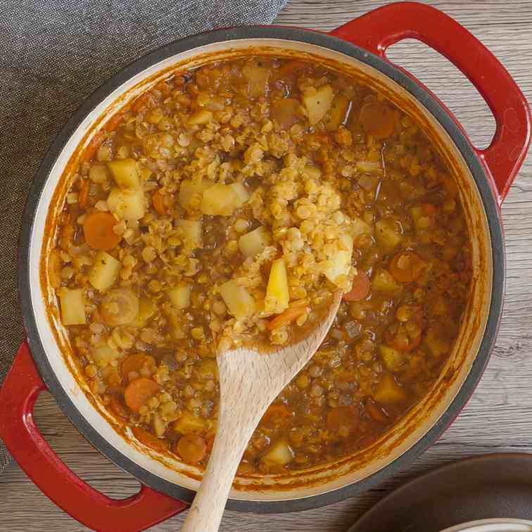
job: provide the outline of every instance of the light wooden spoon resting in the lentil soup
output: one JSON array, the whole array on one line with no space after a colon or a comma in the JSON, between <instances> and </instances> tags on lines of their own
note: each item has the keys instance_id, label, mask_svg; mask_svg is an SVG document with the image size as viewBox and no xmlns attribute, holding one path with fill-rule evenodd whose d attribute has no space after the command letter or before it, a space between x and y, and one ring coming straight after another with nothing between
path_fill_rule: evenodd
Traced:
<instances>
[{"instance_id":1,"label":"light wooden spoon resting in the lentil soup","mask_svg":"<svg viewBox=\"0 0 532 532\"><path fill-rule=\"evenodd\" d=\"M341 292L334 294L327 316L298 343L268 353L238 348L217 355L220 410L216 438L181 532L218 530L236 469L253 431L267 407L319 348L341 296Z\"/></svg>"}]
</instances>

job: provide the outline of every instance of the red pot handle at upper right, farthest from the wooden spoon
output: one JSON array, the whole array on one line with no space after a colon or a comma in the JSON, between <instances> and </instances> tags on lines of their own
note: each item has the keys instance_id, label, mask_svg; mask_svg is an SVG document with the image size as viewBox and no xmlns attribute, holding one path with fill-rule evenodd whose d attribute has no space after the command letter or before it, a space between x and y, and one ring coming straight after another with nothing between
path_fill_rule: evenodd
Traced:
<instances>
[{"instance_id":1,"label":"red pot handle at upper right, farthest from the wooden spoon","mask_svg":"<svg viewBox=\"0 0 532 532\"><path fill-rule=\"evenodd\" d=\"M331 34L381 58L386 58L388 46L403 39L417 39L461 70L479 90L495 117L497 127L490 146L474 150L493 178L498 202L502 203L526 156L531 115L517 84L479 39L445 13L417 2L383 6L336 28ZM406 73L420 83L410 72Z\"/></svg>"}]
</instances>

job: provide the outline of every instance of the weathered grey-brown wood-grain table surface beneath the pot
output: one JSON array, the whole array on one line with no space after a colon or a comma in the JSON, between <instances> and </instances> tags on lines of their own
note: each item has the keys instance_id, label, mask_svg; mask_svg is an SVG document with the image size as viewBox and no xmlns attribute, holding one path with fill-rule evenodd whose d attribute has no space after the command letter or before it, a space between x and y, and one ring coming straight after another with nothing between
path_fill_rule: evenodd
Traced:
<instances>
[{"instance_id":1,"label":"weathered grey-brown wood-grain table surface beneath the pot","mask_svg":"<svg viewBox=\"0 0 532 532\"><path fill-rule=\"evenodd\" d=\"M290 0L280 24L331 30L385 4L383 1ZM530 101L532 96L532 1L430 1L466 26L495 53ZM438 53L403 42L388 56L410 69L443 99L477 146L486 146L493 117L476 90ZM482 68L482 65L479 65ZM502 208L507 248L505 311L488 369L467 407L444 436L409 470L360 497L329 507L278 515L226 512L221 531L342 532L362 512L407 479L462 457L488 452L532 452L532 158L529 156ZM91 448L50 395L39 399L37 423L65 462L91 486L110 496L132 495L139 484ZM179 529L175 517L153 531ZM54 506L12 462L0 475L0 530L87 530Z\"/></svg>"}]
</instances>

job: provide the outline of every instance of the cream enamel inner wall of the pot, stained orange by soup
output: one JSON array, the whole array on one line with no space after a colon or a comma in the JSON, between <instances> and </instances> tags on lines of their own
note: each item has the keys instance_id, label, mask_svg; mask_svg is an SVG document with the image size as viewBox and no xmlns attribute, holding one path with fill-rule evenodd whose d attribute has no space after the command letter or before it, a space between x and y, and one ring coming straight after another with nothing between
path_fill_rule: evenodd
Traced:
<instances>
[{"instance_id":1,"label":"cream enamel inner wall of the pot, stained orange by soup","mask_svg":"<svg viewBox=\"0 0 532 532\"><path fill-rule=\"evenodd\" d=\"M65 353L62 353L56 341L56 336L54 336L55 329L56 334L65 341L65 344L68 344L65 330L61 324L56 319L49 319L47 315L45 302L46 300L53 300L53 292L51 289L47 289L46 293L42 291L39 282L39 261L42 252L46 253L46 250L43 249L46 244L43 240L46 217L50 208L57 208L57 205L51 205L51 200L63 175L63 170L65 170L80 142L83 139L85 142L89 141L91 135L97 131L97 128L91 131L91 127L104 112L111 115L115 110L137 96L139 92L144 91L146 87L158 82L157 72L167 71L168 68L176 63L179 63L180 67L197 66L202 62L208 61L209 56L207 54L210 53L217 54L216 58L220 60L221 58L246 55L251 51L253 53L260 52L277 56L288 54L293 56L295 52L300 55L310 53L314 55L314 60L316 60L316 56L319 56L325 61L334 61L338 68L341 65L342 70L354 69L357 72L362 72L364 77L387 89L391 99L395 100L398 106L405 108L405 104L407 104L414 110L414 114L424 117L426 123L429 124L431 137L441 145L448 158L448 163L452 165L455 173L460 176L460 194L474 244L475 273L471 300L455 350L431 393L421 403L412 408L398 425L386 433L380 441L374 443L371 448L357 452L352 457L341 460L336 464L329 464L327 467L298 471L297 473L283 476L239 478L236 488L232 490L231 494L231 498L237 500L291 500L326 493L360 481L379 471L417 443L440 419L450 403L452 403L455 395L460 391L483 338L490 306L493 272L488 220L483 210L481 197L471 172L469 172L460 152L448 134L429 115L422 104L417 102L405 89L381 74L381 72L342 53L312 44L281 39L243 39L210 44L172 56L147 68L122 84L118 89L115 89L113 93L109 94L104 101L92 110L75 133L72 134L55 165L53 165L42 191L42 196L39 199L34 227L32 228L30 290L37 330L46 351L46 356L58 380L61 382L61 386L68 393L77 410L103 438L123 455L129 457L130 460L167 481L195 490L198 486L198 481L187 476L187 474L198 476L196 468L186 466L177 462L177 460L170 460L168 457L157 457L153 455L153 452L146 452L146 449L134 441L134 438L124 438L115 431L110 417L103 412L103 409L94 405L96 401L89 400L87 397L90 394L89 388L84 386L82 390L80 387L82 386L80 385L82 378L80 376L76 377L65 361L71 357L70 351L66 348L63 349ZM198 56L200 56L199 59ZM210 61L212 61L212 56ZM167 73L161 74L161 77L165 75ZM149 82L143 82L145 80L149 80ZM121 98L125 94L127 94L127 97ZM99 127L105 123L105 120L99 124ZM87 132L90 132L89 137L86 137ZM61 186L63 193L66 188L68 187ZM52 210L52 215L55 212L55 210ZM443 382L444 376L445 383Z\"/></svg>"}]
</instances>

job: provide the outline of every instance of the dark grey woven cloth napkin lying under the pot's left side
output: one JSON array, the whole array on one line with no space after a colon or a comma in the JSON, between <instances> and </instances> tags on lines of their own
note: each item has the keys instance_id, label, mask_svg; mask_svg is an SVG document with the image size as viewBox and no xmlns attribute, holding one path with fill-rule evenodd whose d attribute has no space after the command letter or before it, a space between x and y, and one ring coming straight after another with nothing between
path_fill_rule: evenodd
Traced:
<instances>
[{"instance_id":1,"label":"dark grey woven cloth napkin lying under the pot's left side","mask_svg":"<svg viewBox=\"0 0 532 532\"><path fill-rule=\"evenodd\" d=\"M16 246L46 148L134 59L215 27L272 22L287 0L0 0L0 384L22 339ZM8 452L0 442L0 471Z\"/></svg>"}]
</instances>

